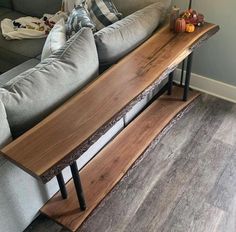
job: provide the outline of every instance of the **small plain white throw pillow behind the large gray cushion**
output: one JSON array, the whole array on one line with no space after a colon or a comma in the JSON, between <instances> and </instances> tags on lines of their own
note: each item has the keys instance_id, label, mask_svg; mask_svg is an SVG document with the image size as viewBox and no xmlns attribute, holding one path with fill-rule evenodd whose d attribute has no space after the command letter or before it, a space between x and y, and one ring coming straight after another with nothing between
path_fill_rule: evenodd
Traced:
<instances>
[{"instance_id":1,"label":"small plain white throw pillow behind the large gray cushion","mask_svg":"<svg viewBox=\"0 0 236 232\"><path fill-rule=\"evenodd\" d=\"M50 31L43 47L41 60L48 58L66 43L65 20L60 19Z\"/></svg>"}]
</instances>

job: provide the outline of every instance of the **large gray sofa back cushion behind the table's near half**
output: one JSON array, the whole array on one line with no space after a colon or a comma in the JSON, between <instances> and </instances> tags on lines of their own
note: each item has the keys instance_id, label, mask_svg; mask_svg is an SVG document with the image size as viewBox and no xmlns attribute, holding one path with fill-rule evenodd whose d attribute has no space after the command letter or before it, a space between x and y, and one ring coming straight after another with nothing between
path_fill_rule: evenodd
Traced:
<instances>
[{"instance_id":1,"label":"large gray sofa back cushion behind the table's near half","mask_svg":"<svg viewBox=\"0 0 236 232\"><path fill-rule=\"evenodd\" d=\"M0 88L13 137L30 129L97 77L93 33L82 28L61 49Z\"/></svg>"}]
</instances>

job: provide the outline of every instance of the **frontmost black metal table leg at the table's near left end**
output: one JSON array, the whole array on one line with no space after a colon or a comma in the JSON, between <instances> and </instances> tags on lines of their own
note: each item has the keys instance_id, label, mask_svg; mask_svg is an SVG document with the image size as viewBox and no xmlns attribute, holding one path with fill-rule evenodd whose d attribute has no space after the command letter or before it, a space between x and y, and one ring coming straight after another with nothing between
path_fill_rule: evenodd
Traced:
<instances>
[{"instance_id":1,"label":"frontmost black metal table leg at the table's near left end","mask_svg":"<svg viewBox=\"0 0 236 232\"><path fill-rule=\"evenodd\" d=\"M71 168L71 173L72 173L72 177L74 180L76 194L77 194L79 204L80 204L80 209L82 211L84 211L86 209L86 203L85 203L85 199L84 199L83 188L82 188L82 184L80 181L79 171L78 171L78 167L77 167L76 162L71 164L70 168Z\"/></svg>"}]
</instances>

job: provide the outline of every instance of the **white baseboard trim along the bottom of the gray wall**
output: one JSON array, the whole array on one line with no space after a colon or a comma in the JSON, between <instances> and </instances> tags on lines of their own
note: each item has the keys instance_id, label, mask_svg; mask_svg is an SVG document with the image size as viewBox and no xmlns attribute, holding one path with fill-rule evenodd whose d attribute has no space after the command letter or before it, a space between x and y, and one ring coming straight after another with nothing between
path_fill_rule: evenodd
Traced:
<instances>
[{"instance_id":1,"label":"white baseboard trim along the bottom of the gray wall","mask_svg":"<svg viewBox=\"0 0 236 232\"><path fill-rule=\"evenodd\" d=\"M175 72L174 81L180 83L180 77L181 70L177 69ZM190 87L192 89L236 103L236 86L192 73Z\"/></svg>"}]
</instances>

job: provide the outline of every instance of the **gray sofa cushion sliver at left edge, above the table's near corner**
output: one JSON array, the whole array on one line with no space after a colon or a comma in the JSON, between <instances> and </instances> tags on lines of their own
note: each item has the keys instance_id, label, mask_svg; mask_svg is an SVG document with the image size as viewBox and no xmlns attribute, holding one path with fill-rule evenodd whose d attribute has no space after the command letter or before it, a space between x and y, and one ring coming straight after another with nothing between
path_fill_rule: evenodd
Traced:
<instances>
[{"instance_id":1,"label":"gray sofa cushion sliver at left edge, above the table's near corner","mask_svg":"<svg viewBox=\"0 0 236 232\"><path fill-rule=\"evenodd\" d=\"M0 149L12 140L10 127L3 103L0 101Z\"/></svg>"}]
</instances>

